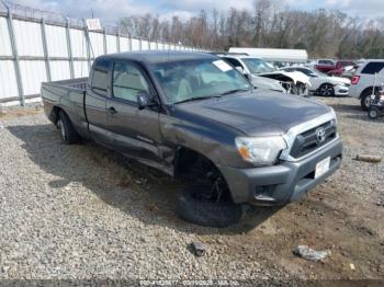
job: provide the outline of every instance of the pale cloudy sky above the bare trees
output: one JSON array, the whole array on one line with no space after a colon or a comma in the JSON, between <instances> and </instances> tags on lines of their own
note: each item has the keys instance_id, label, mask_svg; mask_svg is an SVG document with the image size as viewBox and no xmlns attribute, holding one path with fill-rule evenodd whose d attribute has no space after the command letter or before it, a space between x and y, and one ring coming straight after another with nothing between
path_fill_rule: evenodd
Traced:
<instances>
[{"instance_id":1,"label":"pale cloudy sky above the bare trees","mask_svg":"<svg viewBox=\"0 0 384 287\"><path fill-rule=\"evenodd\" d=\"M147 12L165 18L179 15L187 19L201 9L251 8L253 0L14 0L13 2L59 11L71 18L90 18L92 9L97 18L111 23L125 15ZM384 18L384 0L282 0L282 2L300 10L326 8L362 18Z\"/></svg>"}]
</instances>

